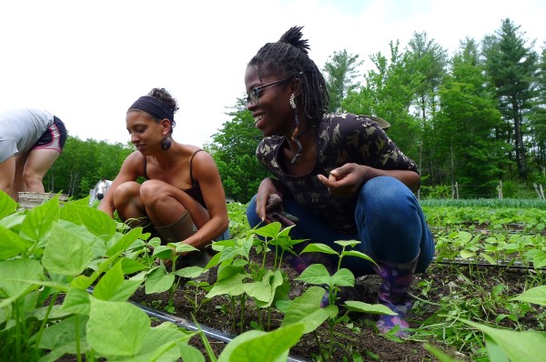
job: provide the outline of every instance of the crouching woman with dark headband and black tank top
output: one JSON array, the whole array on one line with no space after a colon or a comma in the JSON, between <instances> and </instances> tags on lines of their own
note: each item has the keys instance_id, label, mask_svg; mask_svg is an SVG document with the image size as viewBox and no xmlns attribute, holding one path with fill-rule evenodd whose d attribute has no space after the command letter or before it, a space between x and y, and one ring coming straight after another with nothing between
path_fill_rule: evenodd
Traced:
<instances>
[{"instance_id":1,"label":"crouching woman with dark headband and black tank top","mask_svg":"<svg viewBox=\"0 0 546 362\"><path fill-rule=\"evenodd\" d=\"M136 151L127 156L98 208L117 211L128 226L143 226L163 244L184 241L203 249L229 238L226 196L213 158L172 137L177 101L164 88L139 97L126 112L126 128ZM138 177L144 177L141 184ZM190 253L200 260L206 253Z\"/></svg>"}]
</instances>

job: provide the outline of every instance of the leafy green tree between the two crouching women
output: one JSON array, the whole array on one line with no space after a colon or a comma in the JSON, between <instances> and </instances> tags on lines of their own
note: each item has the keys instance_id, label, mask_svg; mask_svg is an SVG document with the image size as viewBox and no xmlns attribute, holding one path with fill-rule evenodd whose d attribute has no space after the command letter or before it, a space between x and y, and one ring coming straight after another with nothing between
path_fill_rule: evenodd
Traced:
<instances>
[{"instance_id":1,"label":"leafy green tree between the two crouching women","mask_svg":"<svg viewBox=\"0 0 546 362\"><path fill-rule=\"evenodd\" d=\"M212 136L212 143L206 148L217 163L226 196L247 203L261 180L268 176L268 170L256 158L262 135L246 109L246 100L238 99L234 109L227 113L232 119Z\"/></svg>"}]
</instances>

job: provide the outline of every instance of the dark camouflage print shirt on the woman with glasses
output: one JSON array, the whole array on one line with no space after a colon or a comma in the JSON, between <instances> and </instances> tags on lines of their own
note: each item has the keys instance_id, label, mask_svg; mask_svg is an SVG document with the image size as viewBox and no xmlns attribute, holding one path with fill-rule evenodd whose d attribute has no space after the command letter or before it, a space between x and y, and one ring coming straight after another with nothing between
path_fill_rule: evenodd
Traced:
<instances>
[{"instance_id":1,"label":"dark camouflage print shirt on the woman with glasses","mask_svg":"<svg viewBox=\"0 0 546 362\"><path fill-rule=\"evenodd\" d=\"M351 198L330 196L328 188L320 183L318 174L329 176L332 169L347 163L419 173L415 162L404 156L389 136L366 116L326 115L320 122L317 135L317 162L305 176L291 176L284 172L279 152L286 142L284 136L262 139L256 155L273 176L286 186L298 204L313 213L319 213L341 233L357 232L357 195Z\"/></svg>"}]
</instances>

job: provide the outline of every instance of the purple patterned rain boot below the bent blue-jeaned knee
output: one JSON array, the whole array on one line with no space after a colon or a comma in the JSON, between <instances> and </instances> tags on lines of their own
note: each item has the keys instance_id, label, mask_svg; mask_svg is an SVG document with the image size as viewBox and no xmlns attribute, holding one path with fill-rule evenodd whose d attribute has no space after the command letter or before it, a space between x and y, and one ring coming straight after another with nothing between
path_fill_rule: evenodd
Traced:
<instances>
[{"instance_id":1,"label":"purple patterned rain boot below the bent blue-jeaned knee","mask_svg":"<svg viewBox=\"0 0 546 362\"><path fill-rule=\"evenodd\" d=\"M376 260L379 266L374 266L374 270L383 279L379 287L379 304L398 313L398 316L382 315L379 317L376 326L382 334L389 333L392 328L399 326L396 336L410 337L407 330L410 325L406 318L413 302L408 290L410 289L418 258L419 255L408 263L390 263Z\"/></svg>"}]
</instances>

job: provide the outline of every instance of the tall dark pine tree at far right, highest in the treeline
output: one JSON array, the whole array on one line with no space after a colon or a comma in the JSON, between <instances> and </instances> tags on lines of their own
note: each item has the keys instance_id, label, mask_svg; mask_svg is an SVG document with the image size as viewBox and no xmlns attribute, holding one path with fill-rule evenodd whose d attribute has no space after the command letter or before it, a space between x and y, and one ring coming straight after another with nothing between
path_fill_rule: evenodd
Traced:
<instances>
[{"instance_id":1,"label":"tall dark pine tree at far right, highest in the treeline","mask_svg":"<svg viewBox=\"0 0 546 362\"><path fill-rule=\"evenodd\" d=\"M509 126L508 141L514 146L518 173L527 179L524 135L528 132L526 115L531 111L534 94L533 75L537 54L526 45L520 26L510 19L502 20L496 35L486 38L484 55L486 69L499 100L504 121Z\"/></svg>"}]
</instances>

